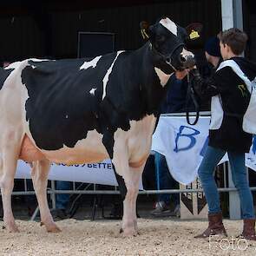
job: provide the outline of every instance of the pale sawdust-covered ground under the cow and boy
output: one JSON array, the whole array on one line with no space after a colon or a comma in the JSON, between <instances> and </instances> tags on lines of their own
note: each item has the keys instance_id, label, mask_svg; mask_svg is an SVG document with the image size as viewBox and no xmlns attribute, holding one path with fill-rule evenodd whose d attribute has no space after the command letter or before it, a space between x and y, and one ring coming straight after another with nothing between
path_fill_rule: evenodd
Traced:
<instances>
[{"instance_id":1,"label":"pale sawdust-covered ground under the cow and boy","mask_svg":"<svg viewBox=\"0 0 256 256\"><path fill-rule=\"evenodd\" d=\"M206 221L139 219L137 237L123 238L119 220L61 220L62 233L38 222L17 220L20 233L0 231L0 255L256 255L256 242L234 239L241 221L226 220L227 240L196 240ZM3 226L3 222L0 222Z\"/></svg>"}]
</instances>

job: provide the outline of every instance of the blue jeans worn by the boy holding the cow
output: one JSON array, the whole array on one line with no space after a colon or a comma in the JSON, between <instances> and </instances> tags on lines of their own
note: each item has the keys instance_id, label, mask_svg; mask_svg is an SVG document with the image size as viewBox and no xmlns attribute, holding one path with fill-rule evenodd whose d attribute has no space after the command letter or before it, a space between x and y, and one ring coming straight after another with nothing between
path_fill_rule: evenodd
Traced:
<instances>
[{"instance_id":1,"label":"blue jeans worn by the boy holding the cow","mask_svg":"<svg viewBox=\"0 0 256 256\"><path fill-rule=\"evenodd\" d=\"M200 181L204 193L206 194L209 213L221 212L220 197L213 173L224 154L226 154L226 151L208 146L198 170ZM227 151L227 154L230 162L233 184L238 189L240 195L242 219L254 219L253 195L249 189L246 176L245 154L229 151Z\"/></svg>"}]
</instances>

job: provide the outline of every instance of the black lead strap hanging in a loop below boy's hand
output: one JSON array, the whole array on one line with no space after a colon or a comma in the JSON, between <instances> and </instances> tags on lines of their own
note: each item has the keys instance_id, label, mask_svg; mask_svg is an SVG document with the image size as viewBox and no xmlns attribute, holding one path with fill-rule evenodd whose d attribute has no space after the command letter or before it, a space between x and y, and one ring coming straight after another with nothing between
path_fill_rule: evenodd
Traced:
<instances>
[{"instance_id":1,"label":"black lead strap hanging in a loop below boy's hand","mask_svg":"<svg viewBox=\"0 0 256 256\"><path fill-rule=\"evenodd\" d=\"M194 109L196 112L195 119L193 122L190 121L190 115L189 115L189 100L190 98L192 99L194 103ZM187 74L187 98L186 98L186 118L187 118L187 123L190 125L195 125L198 120L199 120L199 111L200 111L200 106L199 103L196 100L196 96L194 94L194 89L192 87L192 83L189 77L189 73Z\"/></svg>"}]
</instances>

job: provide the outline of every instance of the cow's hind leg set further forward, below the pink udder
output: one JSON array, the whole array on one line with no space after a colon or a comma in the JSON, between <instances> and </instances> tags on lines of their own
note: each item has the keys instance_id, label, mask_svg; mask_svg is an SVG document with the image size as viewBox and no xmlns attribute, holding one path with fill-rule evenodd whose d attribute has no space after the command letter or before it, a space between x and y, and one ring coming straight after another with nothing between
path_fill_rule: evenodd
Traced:
<instances>
[{"instance_id":1,"label":"cow's hind leg set further forward, below the pink udder","mask_svg":"<svg viewBox=\"0 0 256 256\"><path fill-rule=\"evenodd\" d=\"M48 160L35 161L33 162L31 176L40 210L41 223L46 227L47 232L57 233L61 229L56 226L52 219L46 194L49 167Z\"/></svg>"}]
</instances>

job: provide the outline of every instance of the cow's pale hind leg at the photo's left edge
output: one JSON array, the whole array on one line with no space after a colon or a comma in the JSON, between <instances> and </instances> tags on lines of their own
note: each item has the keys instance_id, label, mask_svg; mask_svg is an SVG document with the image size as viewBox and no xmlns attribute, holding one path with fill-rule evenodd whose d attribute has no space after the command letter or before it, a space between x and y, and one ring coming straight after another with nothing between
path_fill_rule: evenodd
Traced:
<instances>
[{"instance_id":1,"label":"cow's pale hind leg at the photo's left edge","mask_svg":"<svg viewBox=\"0 0 256 256\"><path fill-rule=\"evenodd\" d=\"M12 138L13 136L10 135ZM3 201L3 228L9 232L19 232L11 209L11 193L14 186L14 176L16 174L17 150L16 145L11 145L14 141L7 141L8 147L3 147L1 159L1 193ZM14 146L14 147L12 147Z\"/></svg>"}]
</instances>

